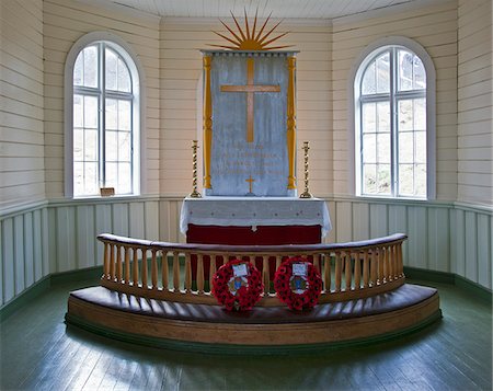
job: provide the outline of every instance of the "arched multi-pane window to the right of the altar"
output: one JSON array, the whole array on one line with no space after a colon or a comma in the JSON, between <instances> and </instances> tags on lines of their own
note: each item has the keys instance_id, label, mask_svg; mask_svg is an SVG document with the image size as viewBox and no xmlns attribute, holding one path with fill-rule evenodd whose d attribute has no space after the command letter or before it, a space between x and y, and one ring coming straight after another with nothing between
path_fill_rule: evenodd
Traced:
<instances>
[{"instance_id":1,"label":"arched multi-pane window to the right of the altar","mask_svg":"<svg viewBox=\"0 0 493 391\"><path fill-rule=\"evenodd\" d=\"M432 197L427 72L423 59L400 45L380 46L360 61L354 79L357 195Z\"/></svg>"}]
</instances>

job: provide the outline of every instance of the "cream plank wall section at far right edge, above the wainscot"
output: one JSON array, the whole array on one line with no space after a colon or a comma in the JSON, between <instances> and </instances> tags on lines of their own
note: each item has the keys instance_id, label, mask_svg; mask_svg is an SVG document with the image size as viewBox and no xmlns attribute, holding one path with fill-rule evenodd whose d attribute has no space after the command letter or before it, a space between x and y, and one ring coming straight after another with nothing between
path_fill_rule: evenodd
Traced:
<instances>
[{"instance_id":1,"label":"cream plank wall section at far right edge, above the wainscot","mask_svg":"<svg viewBox=\"0 0 493 391\"><path fill-rule=\"evenodd\" d=\"M459 1L458 199L493 199L492 1Z\"/></svg>"}]
</instances>

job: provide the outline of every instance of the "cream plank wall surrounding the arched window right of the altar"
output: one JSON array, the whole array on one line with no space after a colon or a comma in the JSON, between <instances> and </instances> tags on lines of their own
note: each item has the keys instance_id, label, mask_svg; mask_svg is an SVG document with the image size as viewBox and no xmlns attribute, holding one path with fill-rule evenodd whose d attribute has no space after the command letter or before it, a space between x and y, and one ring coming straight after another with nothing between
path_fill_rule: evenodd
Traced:
<instances>
[{"instance_id":1,"label":"cream plank wall surrounding the arched window right of the altar","mask_svg":"<svg viewBox=\"0 0 493 391\"><path fill-rule=\"evenodd\" d=\"M371 43L400 35L421 44L436 69L436 195L457 195L457 3L434 7L397 7L402 11L371 12L372 18L342 18L333 22L332 104L334 193L348 194L348 101L351 67Z\"/></svg>"}]
</instances>

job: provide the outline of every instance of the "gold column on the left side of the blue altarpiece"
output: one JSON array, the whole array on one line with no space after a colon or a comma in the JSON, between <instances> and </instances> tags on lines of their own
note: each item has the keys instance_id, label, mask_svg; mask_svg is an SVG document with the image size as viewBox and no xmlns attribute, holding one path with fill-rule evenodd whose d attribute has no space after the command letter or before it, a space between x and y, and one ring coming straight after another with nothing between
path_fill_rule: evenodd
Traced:
<instances>
[{"instance_id":1,"label":"gold column on the left side of the blue altarpiece","mask_svg":"<svg viewBox=\"0 0 493 391\"><path fill-rule=\"evenodd\" d=\"M213 96L210 92L210 62L211 56L204 56L204 188L210 185L210 150L213 145Z\"/></svg>"}]
</instances>

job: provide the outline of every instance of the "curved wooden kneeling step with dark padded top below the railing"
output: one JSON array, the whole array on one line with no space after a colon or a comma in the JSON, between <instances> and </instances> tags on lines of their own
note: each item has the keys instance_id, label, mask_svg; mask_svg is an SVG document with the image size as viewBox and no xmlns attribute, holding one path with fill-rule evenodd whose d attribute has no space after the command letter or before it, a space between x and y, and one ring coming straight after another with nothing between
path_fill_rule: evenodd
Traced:
<instances>
[{"instance_id":1,"label":"curved wooden kneeling step with dark padded top below the railing","mask_svg":"<svg viewBox=\"0 0 493 391\"><path fill-rule=\"evenodd\" d=\"M66 321L152 346L194 350L270 346L272 353L276 347L381 340L439 318L436 289L404 284L390 292L319 304L302 312L287 307L227 312L219 306L159 301L93 287L70 294Z\"/></svg>"}]
</instances>

